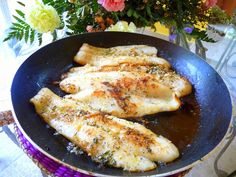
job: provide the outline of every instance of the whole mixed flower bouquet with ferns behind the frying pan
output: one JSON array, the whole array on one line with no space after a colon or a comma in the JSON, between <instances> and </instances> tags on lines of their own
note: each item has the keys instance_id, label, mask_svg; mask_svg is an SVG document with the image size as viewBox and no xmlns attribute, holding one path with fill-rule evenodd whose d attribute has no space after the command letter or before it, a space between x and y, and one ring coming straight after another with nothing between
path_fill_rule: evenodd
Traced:
<instances>
[{"instance_id":1,"label":"whole mixed flower bouquet with ferns behind the frying pan","mask_svg":"<svg viewBox=\"0 0 236 177\"><path fill-rule=\"evenodd\" d=\"M44 33L66 35L98 31L135 32L149 27L158 32L166 29L170 41L188 49L188 41L215 42L207 35L213 7L217 0L42 0L31 4L18 2L22 9L13 15L5 41L15 38L42 43ZM26 9L30 9L27 10ZM214 18L216 19L216 18ZM212 28L211 28L212 29ZM214 30L214 32L217 32Z\"/></svg>"}]
</instances>

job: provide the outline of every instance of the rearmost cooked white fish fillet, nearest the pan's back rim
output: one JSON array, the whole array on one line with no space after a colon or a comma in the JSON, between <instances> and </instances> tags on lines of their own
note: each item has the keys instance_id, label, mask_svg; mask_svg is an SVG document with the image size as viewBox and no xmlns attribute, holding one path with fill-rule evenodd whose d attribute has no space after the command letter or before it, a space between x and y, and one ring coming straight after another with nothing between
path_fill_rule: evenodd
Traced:
<instances>
[{"instance_id":1,"label":"rearmost cooked white fish fillet, nearest the pan's back rim","mask_svg":"<svg viewBox=\"0 0 236 177\"><path fill-rule=\"evenodd\" d=\"M161 64L170 67L170 63L156 56L157 49L146 45L117 46L111 48L99 48L89 44L83 44L74 57L74 61L93 66L117 65L120 63L135 64Z\"/></svg>"}]
</instances>

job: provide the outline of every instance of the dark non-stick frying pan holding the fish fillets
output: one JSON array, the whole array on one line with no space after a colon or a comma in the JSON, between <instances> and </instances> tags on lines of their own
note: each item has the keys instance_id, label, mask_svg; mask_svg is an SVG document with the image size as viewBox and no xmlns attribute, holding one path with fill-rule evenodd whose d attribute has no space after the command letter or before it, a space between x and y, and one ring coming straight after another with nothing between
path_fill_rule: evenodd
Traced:
<instances>
[{"instance_id":1,"label":"dark non-stick frying pan holding the fish fillets","mask_svg":"<svg viewBox=\"0 0 236 177\"><path fill-rule=\"evenodd\" d=\"M48 87L62 96L53 81L74 65L73 57L83 43L112 47L129 44L155 46L158 55L167 59L173 68L193 84L200 106L200 126L190 147L181 158L148 172L129 173L121 169L94 163L86 154L67 151L68 141L54 136L54 130L36 114L29 99L42 87ZM232 105L222 78L204 60L185 49L161 39L134 33L101 32L64 38L32 54L18 69L11 88L16 122L27 139L40 151L64 165L80 172L97 176L165 176L192 167L195 162L213 151L222 141L231 122Z\"/></svg>"}]
</instances>

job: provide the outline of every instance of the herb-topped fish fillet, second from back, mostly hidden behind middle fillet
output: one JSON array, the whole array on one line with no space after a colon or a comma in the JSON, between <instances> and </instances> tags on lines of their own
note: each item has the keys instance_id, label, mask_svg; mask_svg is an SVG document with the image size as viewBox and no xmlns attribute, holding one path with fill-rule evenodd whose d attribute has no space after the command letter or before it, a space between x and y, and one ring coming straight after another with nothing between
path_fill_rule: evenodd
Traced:
<instances>
[{"instance_id":1,"label":"herb-topped fish fillet, second from back, mostly hidden behind middle fillet","mask_svg":"<svg viewBox=\"0 0 236 177\"><path fill-rule=\"evenodd\" d=\"M160 84L171 88L178 97L183 97L192 92L191 83L184 77L177 74L175 71L163 67L162 65L136 65L136 64L119 64L114 66L90 66L71 68L68 73L63 74L62 78L76 77L85 73L96 72L113 72L113 71L127 71L138 73L149 73L156 76Z\"/></svg>"}]
</instances>

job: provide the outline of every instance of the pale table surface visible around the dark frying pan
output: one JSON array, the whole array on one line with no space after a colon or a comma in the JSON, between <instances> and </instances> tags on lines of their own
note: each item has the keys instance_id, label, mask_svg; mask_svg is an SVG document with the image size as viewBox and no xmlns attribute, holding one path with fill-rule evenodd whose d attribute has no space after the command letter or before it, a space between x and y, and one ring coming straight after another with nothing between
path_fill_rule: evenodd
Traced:
<instances>
[{"instance_id":1,"label":"pale table surface visible around the dark frying pan","mask_svg":"<svg viewBox=\"0 0 236 177\"><path fill-rule=\"evenodd\" d=\"M154 35L160 37L162 39L168 39L166 36L160 36L156 33L146 32L148 35ZM50 40L50 39L49 39ZM47 44L45 42L43 45ZM220 58L221 54L227 48L229 43L228 39L223 39L218 42L218 44L209 44L205 43L207 46L207 56L215 57L217 53L218 59ZM18 45L18 46L17 46ZM22 47L22 48L21 48ZM41 46L42 47L42 46ZM191 49L194 50L194 45L192 44ZM21 43L15 44L14 48L12 49L8 43L2 43L0 47L0 111L9 110L11 108L11 101L10 101L10 85L12 82L12 78L20 66L20 64L34 51L36 51L39 47L37 45L27 46ZM235 49L233 49L236 51ZM217 63L217 58L208 58L208 62L215 66ZM222 70L220 73L226 84L229 87L229 90L236 98L236 79L229 77L225 69ZM235 110L235 109L234 109ZM10 126L11 127L11 126ZM42 176L39 169L19 150L18 147L14 145L9 138L0 133L0 149L8 149L4 150L3 153L0 154L0 176ZM227 141L223 142L221 147L218 148L218 151L214 152L208 159L204 159L201 163L196 165L187 175L186 177L197 177L197 176L217 176L220 174L216 174L214 165L216 165L217 157L224 147ZM7 147L7 148L6 148ZM9 152L15 151L13 155ZM17 154L18 153L18 154ZM13 157L14 156L14 157ZM3 159L3 160L2 160ZM22 163L26 163L27 166ZM17 165L16 165L17 164ZM31 167L31 170L28 168ZM216 167L216 166L215 166ZM230 144L227 148L226 152L222 155L219 162L217 163L217 167L220 169L218 173L221 172L221 176L225 176L225 174L229 174L235 170L236 167L236 139ZM24 170L25 169L25 170ZM12 171L19 170L21 173L12 173Z\"/></svg>"}]
</instances>

